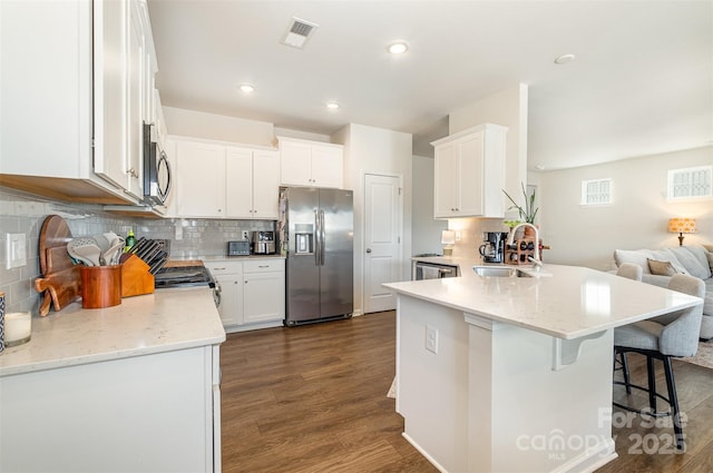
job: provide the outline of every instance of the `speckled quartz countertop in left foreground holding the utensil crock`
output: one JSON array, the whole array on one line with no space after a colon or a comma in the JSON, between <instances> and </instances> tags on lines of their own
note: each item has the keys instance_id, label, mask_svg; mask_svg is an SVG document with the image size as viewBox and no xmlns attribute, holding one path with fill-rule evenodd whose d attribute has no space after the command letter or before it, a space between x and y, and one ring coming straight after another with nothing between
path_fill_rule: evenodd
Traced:
<instances>
[{"instance_id":1,"label":"speckled quartz countertop in left foreground holding the utensil crock","mask_svg":"<svg viewBox=\"0 0 713 473\"><path fill-rule=\"evenodd\" d=\"M225 331L211 288L157 289L121 304L82 309L75 303L32 317L30 342L6 348L0 376L214 345Z\"/></svg>"}]
</instances>

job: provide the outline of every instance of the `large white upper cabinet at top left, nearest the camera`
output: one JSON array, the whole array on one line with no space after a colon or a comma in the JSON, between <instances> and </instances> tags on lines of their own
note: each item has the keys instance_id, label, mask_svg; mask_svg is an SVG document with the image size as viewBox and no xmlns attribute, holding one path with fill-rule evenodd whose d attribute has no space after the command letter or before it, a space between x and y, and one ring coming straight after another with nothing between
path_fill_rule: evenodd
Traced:
<instances>
[{"instance_id":1,"label":"large white upper cabinet at top left, nearest the camera","mask_svg":"<svg viewBox=\"0 0 713 473\"><path fill-rule=\"evenodd\" d=\"M145 0L0 2L0 184L135 204L156 60Z\"/></svg>"}]
</instances>

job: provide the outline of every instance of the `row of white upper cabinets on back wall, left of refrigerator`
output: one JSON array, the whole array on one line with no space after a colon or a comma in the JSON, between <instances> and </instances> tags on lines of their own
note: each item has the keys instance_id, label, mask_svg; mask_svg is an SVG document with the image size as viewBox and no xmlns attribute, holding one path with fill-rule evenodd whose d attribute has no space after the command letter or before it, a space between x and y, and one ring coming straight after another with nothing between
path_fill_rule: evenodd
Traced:
<instances>
[{"instance_id":1,"label":"row of white upper cabinets on back wall, left of refrigerator","mask_svg":"<svg viewBox=\"0 0 713 473\"><path fill-rule=\"evenodd\" d=\"M277 219L279 154L177 139L176 217Z\"/></svg>"}]
</instances>

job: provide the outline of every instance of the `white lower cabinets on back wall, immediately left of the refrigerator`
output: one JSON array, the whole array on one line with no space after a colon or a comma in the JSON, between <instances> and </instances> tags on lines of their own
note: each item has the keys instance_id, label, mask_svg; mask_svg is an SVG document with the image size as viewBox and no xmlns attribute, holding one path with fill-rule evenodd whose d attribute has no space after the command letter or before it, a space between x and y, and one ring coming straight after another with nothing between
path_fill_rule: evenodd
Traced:
<instances>
[{"instance_id":1,"label":"white lower cabinets on back wall, immediately left of the refrigerator","mask_svg":"<svg viewBox=\"0 0 713 473\"><path fill-rule=\"evenodd\" d=\"M221 285L218 313L226 332L276 327L285 318L285 262L251 258L204 262Z\"/></svg>"}]
</instances>

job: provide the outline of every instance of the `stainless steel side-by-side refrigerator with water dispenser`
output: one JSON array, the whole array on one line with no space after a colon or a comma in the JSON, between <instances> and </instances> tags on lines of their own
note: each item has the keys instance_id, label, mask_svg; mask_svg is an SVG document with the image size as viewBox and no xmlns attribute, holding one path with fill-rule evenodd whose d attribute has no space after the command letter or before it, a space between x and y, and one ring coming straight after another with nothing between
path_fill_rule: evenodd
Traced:
<instances>
[{"instance_id":1,"label":"stainless steel side-by-side refrigerator with water dispenser","mask_svg":"<svg viewBox=\"0 0 713 473\"><path fill-rule=\"evenodd\" d=\"M351 317L352 191L282 188L280 215L280 247L286 257L285 325Z\"/></svg>"}]
</instances>

